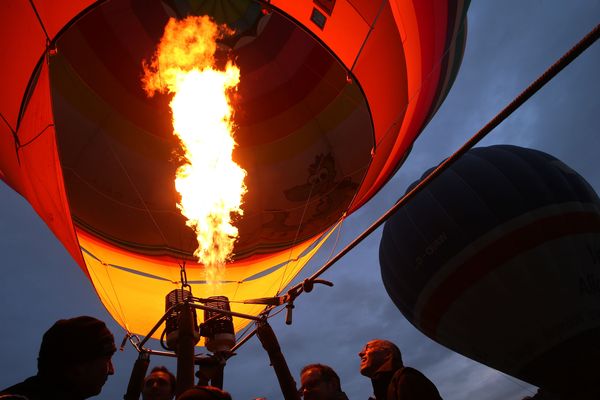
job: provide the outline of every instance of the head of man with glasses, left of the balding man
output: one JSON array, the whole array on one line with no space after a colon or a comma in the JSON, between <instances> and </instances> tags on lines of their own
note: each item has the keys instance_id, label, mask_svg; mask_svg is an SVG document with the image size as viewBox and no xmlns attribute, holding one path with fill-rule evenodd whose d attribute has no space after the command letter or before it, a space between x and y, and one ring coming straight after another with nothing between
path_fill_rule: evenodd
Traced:
<instances>
[{"instance_id":1,"label":"head of man with glasses, left of the balding man","mask_svg":"<svg viewBox=\"0 0 600 400\"><path fill-rule=\"evenodd\" d=\"M304 400L348 400L340 377L329 366L308 364L300 371L300 390Z\"/></svg>"}]
</instances>

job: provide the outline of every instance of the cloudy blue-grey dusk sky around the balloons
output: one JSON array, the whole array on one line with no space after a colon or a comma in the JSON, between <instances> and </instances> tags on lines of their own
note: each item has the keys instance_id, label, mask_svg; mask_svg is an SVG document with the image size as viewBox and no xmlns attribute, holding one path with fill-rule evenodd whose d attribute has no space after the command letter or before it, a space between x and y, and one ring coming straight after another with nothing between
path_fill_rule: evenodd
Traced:
<instances>
[{"instance_id":1,"label":"cloudy blue-grey dusk sky around the balloons","mask_svg":"<svg viewBox=\"0 0 600 400\"><path fill-rule=\"evenodd\" d=\"M371 202L344 222L340 240L324 246L297 281L382 215L410 183L458 149L591 31L600 22L600 1L474 0L467 19L467 44L456 82L407 162ZM507 143L545 151L600 192L599 70L600 44L595 43L479 145ZM118 346L124 330L37 214L5 184L0 184L0 204L0 388L35 374L41 337L59 318L86 314L103 319ZM357 353L365 342L384 338L395 342L405 364L425 373L446 400L520 400L533 395L535 387L433 342L402 316L381 283L380 237L378 229L322 276L335 284L333 288L316 286L300 296L291 326L284 324L284 313L271 318L296 381L305 364L328 364L339 373L350 399L367 399L372 388L358 372ZM130 345L115 354L116 374L98 399L122 398L136 356ZM154 365L175 370L172 359L154 356ZM225 389L237 400L282 398L256 338L229 360Z\"/></svg>"}]
</instances>

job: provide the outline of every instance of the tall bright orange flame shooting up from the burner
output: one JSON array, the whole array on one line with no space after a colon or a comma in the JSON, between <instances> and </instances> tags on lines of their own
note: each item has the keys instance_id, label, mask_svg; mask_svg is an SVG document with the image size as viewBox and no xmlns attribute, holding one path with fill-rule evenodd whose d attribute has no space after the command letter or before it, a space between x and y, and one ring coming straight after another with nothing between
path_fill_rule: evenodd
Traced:
<instances>
[{"instance_id":1,"label":"tall bright orange flame shooting up from the burner","mask_svg":"<svg viewBox=\"0 0 600 400\"><path fill-rule=\"evenodd\" d=\"M181 140L186 163L178 168L177 204L194 229L194 255L204 264L209 283L221 280L238 231L231 214L246 192L246 171L232 161L233 109L228 93L240 79L230 61L224 71L215 67L217 39L230 31L208 17L171 18L151 63L143 63L144 90L172 93L173 132Z\"/></svg>"}]
</instances>

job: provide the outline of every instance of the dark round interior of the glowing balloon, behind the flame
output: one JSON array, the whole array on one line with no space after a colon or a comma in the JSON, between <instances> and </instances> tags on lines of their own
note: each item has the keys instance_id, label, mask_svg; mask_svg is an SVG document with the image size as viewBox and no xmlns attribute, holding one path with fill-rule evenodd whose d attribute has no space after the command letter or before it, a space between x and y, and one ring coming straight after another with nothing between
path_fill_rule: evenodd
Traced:
<instances>
[{"instance_id":1,"label":"dark round interior of the glowing balloon, behind the flame","mask_svg":"<svg viewBox=\"0 0 600 400\"><path fill-rule=\"evenodd\" d=\"M248 193L233 259L318 237L348 210L371 162L362 89L291 18L252 1L221 11L191 4L105 2L57 40L56 146L76 228L126 251L194 258L194 233L176 208L181 151L170 97L148 98L140 76L168 18L209 15L236 31L219 42L217 63L233 59L241 70L233 158Z\"/></svg>"}]
</instances>

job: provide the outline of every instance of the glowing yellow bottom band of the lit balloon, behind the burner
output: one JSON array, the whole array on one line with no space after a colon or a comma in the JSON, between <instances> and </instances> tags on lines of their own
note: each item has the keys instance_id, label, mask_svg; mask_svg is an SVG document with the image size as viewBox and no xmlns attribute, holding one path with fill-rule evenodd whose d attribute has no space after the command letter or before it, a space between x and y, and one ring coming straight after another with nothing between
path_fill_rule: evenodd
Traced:
<instances>
[{"instance_id":1,"label":"glowing yellow bottom band of the lit balloon, behind the burner","mask_svg":"<svg viewBox=\"0 0 600 400\"><path fill-rule=\"evenodd\" d=\"M205 282L201 266L186 266L188 283L195 297L226 296L232 311L256 316L264 306L243 304L243 301L278 295L333 231L335 228L312 244L296 246L286 255L278 254L248 266L226 267L225 277L217 285ZM165 313L167 294L181 288L180 266L175 261L169 263L166 258L158 263L156 259L151 262L143 256L124 254L98 243L84 232L78 232L78 239L90 279L106 309L127 332L147 335ZM198 319L203 319L201 312ZM236 333L249 322L234 317ZM162 330L158 329L152 337L159 339Z\"/></svg>"}]
</instances>

